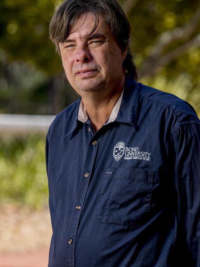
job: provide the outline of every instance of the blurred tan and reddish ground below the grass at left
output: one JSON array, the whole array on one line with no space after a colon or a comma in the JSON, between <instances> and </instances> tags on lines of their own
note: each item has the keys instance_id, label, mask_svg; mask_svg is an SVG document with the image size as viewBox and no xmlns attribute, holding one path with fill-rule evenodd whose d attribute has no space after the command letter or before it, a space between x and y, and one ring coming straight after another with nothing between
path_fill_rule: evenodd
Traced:
<instances>
[{"instance_id":1,"label":"blurred tan and reddish ground below the grass at left","mask_svg":"<svg viewBox=\"0 0 200 267\"><path fill-rule=\"evenodd\" d=\"M0 209L0 267L47 267L52 235L49 210Z\"/></svg>"}]
</instances>

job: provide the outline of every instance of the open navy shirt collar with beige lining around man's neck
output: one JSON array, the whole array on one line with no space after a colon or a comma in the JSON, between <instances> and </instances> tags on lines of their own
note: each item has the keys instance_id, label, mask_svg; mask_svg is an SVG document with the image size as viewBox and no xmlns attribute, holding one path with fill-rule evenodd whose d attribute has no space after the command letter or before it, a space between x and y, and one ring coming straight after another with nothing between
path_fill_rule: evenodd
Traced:
<instances>
[{"instance_id":1,"label":"open navy shirt collar with beige lining around man's neck","mask_svg":"<svg viewBox=\"0 0 200 267\"><path fill-rule=\"evenodd\" d=\"M114 121L130 123L137 131L138 99L138 83L133 78L126 75L124 89L110 114L110 118L104 125ZM73 126L66 134L66 136L69 136L76 129L78 121L86 123L86 121L88 120L88 114L86 108L84 107L82 98L79 99L78 109L76 113L76 119L73 123Z\"/></svg>"}]
</instances>

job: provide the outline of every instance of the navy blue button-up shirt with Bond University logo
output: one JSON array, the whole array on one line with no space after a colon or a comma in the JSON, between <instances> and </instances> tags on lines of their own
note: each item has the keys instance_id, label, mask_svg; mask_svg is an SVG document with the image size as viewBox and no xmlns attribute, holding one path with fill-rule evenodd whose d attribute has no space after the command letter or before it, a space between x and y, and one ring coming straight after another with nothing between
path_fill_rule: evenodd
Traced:
<instances>
[{"instance_id":1,"label":"navy blue button-up shirt with Bond University logo","mask_svg":"<svg viewBox=\"0 0 200 267\"><path fill-rule=\"evenodd\" d=\"M129 76L94 131L82 100L47 134L49 267L200 266L200 121Z\"/></svg>"}]
</instances>

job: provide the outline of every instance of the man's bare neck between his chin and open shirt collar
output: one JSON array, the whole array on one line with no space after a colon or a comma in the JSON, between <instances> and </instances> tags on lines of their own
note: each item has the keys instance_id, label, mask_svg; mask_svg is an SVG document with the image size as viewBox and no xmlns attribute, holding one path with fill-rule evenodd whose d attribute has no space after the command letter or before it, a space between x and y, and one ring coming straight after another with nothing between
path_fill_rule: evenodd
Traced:
<instances>
[{"instance_id":1,"label":"man's bare neck between his chin and open shirt collar","mask_svg":"<svg viewBox=\"0 0 200 267\"><path fill-rule=\"evenodd\" d=\"M95 131L98 131L110 117L110 114L122 93L124 83L125 74L113 90L104 90L101 92L91 91L82 95L82 101Z\"/></svg>"}]
</instances>

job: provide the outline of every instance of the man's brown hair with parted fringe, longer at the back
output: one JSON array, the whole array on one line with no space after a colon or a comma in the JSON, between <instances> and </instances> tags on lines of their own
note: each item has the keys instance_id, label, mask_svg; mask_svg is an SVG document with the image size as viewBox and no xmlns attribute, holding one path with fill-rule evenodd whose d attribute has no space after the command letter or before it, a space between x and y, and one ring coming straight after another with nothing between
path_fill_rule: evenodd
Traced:
<instances>
[{"instance_id":1,"label":"man's brown hair with parted fringe, longer at the back","mask_svg":"<svg viewBox=\"0 0 200 267\"><path fill-rule=\"evenodd\" d=\"M100 15L103 15L118 45L123 51L126 47L128 49L123 62L125 71L137 80L138 73L130 50L130 23L116 0L65 0L62 2L51 19L49 30L50 39L55 44L58 54L60 55L58 43L67 39L80 15L88 12L93 13L95 19L90 34L96 30Z\"/></svg>"}]
</instances>

